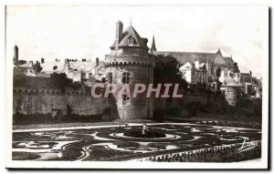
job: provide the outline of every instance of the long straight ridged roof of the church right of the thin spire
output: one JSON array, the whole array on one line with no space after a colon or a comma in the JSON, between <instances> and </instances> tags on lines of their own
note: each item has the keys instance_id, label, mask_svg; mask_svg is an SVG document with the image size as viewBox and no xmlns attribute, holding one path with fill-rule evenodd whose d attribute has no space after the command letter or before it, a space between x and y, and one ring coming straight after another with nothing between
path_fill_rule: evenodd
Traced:
<instances>
[{"instance_id":1,"label":"long straight ridged roof of the church right of the thin spire","mask_svg":"<svg viewBox=\"0 0 274 174\"><path fill-rule=\"evenodd\" d=\"M166 52L155 51L153 55L174 56L177 61L184 65L186 62L199 61L199 63L206 63L206 61L213 61L216 58L216 53L199 53L199 52Z\"/></svg>"}]
</instances>

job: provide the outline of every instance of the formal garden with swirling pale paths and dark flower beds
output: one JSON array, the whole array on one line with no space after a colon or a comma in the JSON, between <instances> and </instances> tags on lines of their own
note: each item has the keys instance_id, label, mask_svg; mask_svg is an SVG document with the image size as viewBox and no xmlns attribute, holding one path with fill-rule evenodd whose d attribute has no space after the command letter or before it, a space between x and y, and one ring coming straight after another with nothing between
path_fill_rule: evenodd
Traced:
<instances>
[{"instance_id":1,"label":"formal garden with swirling pale paths and dark flower beds","mask_svg":"<svg viewBox=\"0 0 274 174\"><path fill-rule=\"evenodd\" d=\"M189 123L17 129L13 159L231 162L259 159L260 140L259 129ZM240 153L244 142L256 146ZM248 151L253 155L247 158Z\"/></svg>"}]
</instances>

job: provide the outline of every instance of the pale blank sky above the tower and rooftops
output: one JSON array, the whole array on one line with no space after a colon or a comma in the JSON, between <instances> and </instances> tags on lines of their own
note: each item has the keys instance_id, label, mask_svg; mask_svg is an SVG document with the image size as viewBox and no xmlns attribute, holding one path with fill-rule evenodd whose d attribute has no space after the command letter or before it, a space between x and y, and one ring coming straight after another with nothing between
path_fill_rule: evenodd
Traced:
<instances>
[{"instance_id":1,"label":"pale blank sky above the tower and rooftops","mask_svg":"<svg viewBox=\"0 0 274 174\"><path fill-rule=\"evenodd\" d=\"M53 61L104 59L116 22L132 26L158 51L232 56L241 72L262 77L269 58L268 7L262 6L7 6L6 58Z\"/></svg>"}]
</instances>

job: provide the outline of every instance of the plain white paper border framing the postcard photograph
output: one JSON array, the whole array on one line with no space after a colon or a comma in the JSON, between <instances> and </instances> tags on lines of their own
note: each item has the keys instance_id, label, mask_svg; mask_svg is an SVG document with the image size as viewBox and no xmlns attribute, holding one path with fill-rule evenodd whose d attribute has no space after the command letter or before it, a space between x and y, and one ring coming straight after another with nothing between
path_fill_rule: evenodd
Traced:
<instances>
[{"instance_id":1,"label":"plain white paper border framing the postcard photograph","mask_svg":"<svg viewBox=\"0 0 274 174\"><path fill-rule=\"evenodd\" d=\"M46 1L37 3L27 1L24 3L14 1L16 5L45 5ZM48 5L60 5L47 1ZM69 2L69 1L68 1ZM71 2L71 1L70 1ZM81 2L81 1L80 1ZM13 3L14 5L15 3ZM92 4L92 5L110 5ZM11 5L7 3L7 5ZM47 4L46 4L47 5ZM63 4L62 4L63 5ZM75 5L75 3L68 3ZM79 5L79 3L77 4ZM87 3L81 3L87 5ZM90 5L90 4L89 4ZM113 5L113 4L111 4ZM115 5L119 5L115 4ZM152 5L152 4L149 4ZM268 6L266 15L269 14ZM268 43L269 44L269 43ZM268 46L269 47L269 46ZM268 168L268 149L269 149L269 52L263 61L263 120L262 120L262 158L233 163L155 163L155 162L97 162L97 161L16 161L12 160L12 105L13 105L13 59L5 57L5 167L19 169L267 169Z\"/></svg>"}]
</instances>

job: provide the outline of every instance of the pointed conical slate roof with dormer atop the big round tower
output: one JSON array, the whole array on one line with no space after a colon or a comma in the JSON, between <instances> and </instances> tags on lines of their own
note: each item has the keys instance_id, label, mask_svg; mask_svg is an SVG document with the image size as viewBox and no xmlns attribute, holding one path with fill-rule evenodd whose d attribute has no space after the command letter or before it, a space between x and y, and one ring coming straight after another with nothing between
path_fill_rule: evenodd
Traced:
<instances>
[{"instance_id":1,"label":"pointed conical slate roof with dormer atop the big round tower","mask_svg":"<svg viewBox=\"0 0 274 174\"><path fill-rule=\"evenodd\" d=\"M121 42L118 46L130 46L129 45L129 37L133 36L134 43L133 46L140 46L142 48L148 49L148 46L146 46L147 38L143 38L139 36L139 34L136 32L136 30L133 28L133 26L129 26L122 34ZM115 46L115 43L111 45L111 48Z\"/></svg>"}]
</instances>

